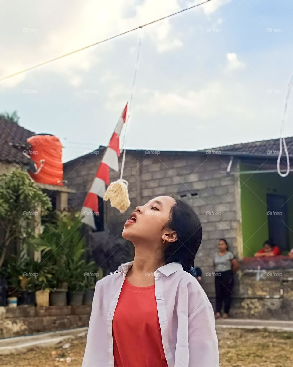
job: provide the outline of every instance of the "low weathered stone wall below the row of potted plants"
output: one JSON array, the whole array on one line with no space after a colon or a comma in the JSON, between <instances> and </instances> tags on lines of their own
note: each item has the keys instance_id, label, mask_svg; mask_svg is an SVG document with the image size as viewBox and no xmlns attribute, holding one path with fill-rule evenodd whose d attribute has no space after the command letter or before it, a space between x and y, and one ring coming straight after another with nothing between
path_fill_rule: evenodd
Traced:
<instances>
[{"instance_id":1,"label":"low weathered stone wall below the row of potted plants","mask_svg":"<svg viewBox=\"0 0 293 367\"><path fill-rule=\"evenodd\" d=\"M0 338L87 327L91 307L0 307Z\"/></svg>"}]
</instances>

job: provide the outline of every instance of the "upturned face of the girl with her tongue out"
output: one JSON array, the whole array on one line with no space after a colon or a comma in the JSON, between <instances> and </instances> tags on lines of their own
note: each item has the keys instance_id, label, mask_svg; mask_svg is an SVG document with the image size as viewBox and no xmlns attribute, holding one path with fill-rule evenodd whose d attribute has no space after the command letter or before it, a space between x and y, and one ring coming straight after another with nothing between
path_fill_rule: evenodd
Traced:
<instances>
[{"instance_id":1,"label":"upturned face of the girl with her tongue out","mask_svg":"<svg viewBox=\"0 0 293 367\"><path fill-rule=\"evenodd\" d=\"M158 196L136 207L135 212L126 218L135 217L135 220L125 222L122 237L132 242L147 241L150 244L162 243L164 236L166 243L176 241L176 232L163 228L175 203L170 196Z\"/></svg>"}]
</instances>

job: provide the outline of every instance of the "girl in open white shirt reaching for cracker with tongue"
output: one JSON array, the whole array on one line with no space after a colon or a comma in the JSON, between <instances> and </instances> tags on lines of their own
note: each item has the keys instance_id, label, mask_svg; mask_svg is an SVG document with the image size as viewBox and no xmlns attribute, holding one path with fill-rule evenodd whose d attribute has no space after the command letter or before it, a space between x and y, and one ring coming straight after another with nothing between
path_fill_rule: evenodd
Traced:
<instances>
[{"instance_id":1,"label":"girl in open white shirt reaching for cracker with tongue","mask_svg":"<svg viewBox=\"0 0 293 367\"><path fill-rule=\"evenodd\" d=\"M96 283L82 367L219 367L213 309L188 273L202 239L193 209L156 197L122 236L135 257Z\"/></svg>"}]
</instances>

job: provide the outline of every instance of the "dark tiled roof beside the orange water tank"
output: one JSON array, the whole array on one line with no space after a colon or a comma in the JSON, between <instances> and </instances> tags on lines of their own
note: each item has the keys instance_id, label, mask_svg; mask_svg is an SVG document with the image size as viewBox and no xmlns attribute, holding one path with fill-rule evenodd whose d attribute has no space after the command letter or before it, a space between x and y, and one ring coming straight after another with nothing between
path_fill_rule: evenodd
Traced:
<instances>
[{"instance_id":1,"label":"dark tiled roof beside the orange water tank","mask_svg":"<svg viewBox=\"0 0 293 367\"><path fill-rule=\"evenodd\" d=\"M9 143L25 144L26 139L32 135L35 133L0 117L0 161L8 163L27 161L28 158L22 154L22 150L13 148Z\"/></svg>"}]
</instances>

